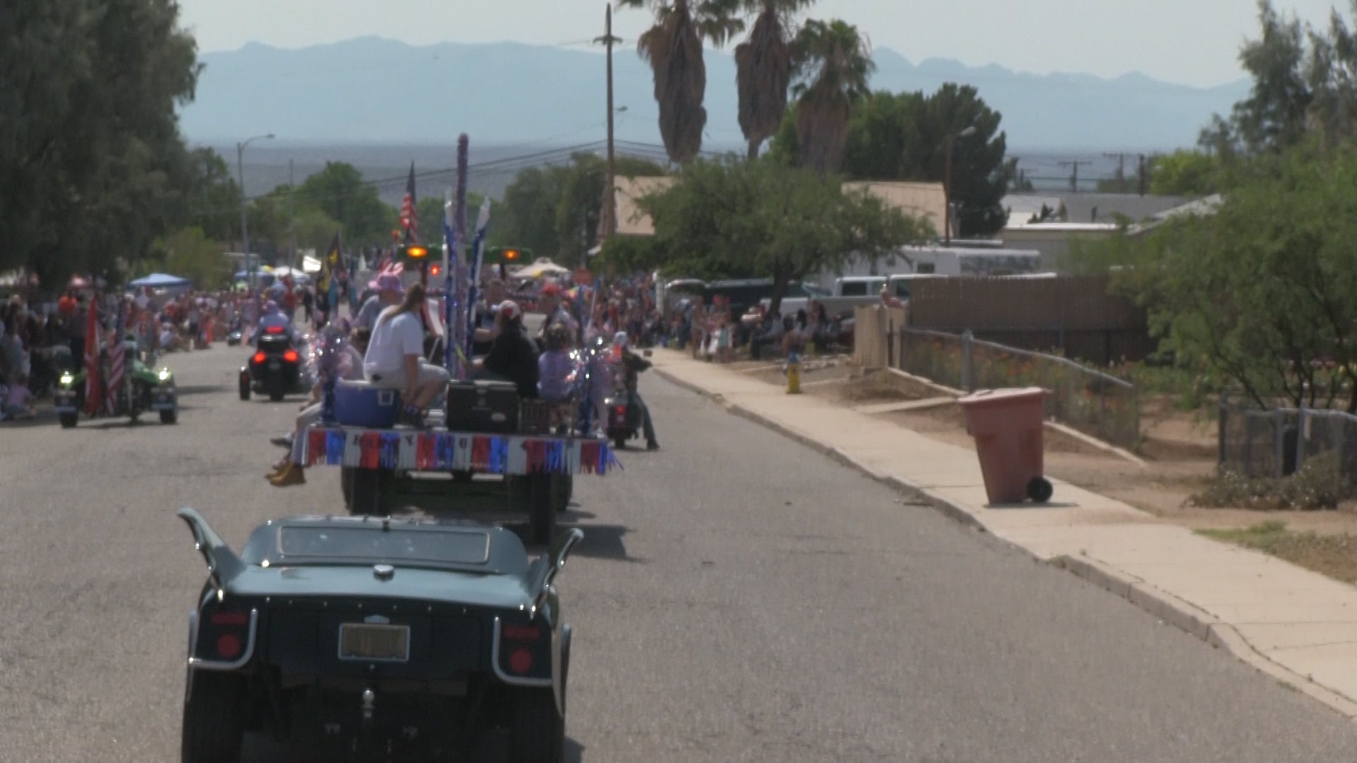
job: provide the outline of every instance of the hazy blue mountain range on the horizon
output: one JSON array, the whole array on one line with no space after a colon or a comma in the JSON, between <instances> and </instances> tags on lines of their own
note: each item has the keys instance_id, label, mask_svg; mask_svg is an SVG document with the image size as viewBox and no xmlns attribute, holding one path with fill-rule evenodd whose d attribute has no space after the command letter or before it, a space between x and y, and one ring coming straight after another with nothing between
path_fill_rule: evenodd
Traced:
<instances>
[{"instance_id":1,"label":"hazy blue mountain range on the horizon","mask_svg":"<svg viewBox=\"0 0 1357 763\"><path fill-rule=\"evenodd\" d=\"M1194 88L1137 73L1109 80L938 58L913 64L886 48L874 57L877 90L974 86L1003 114L1011 152L1193 145L1213 113L1228 113L1248 91L1246 80ZM451 148L463 132L480 147L574 145L604 137L604 57L589 50L513 42L411 46L365 37L297 50L250 43L205 53L201 61L206 68L197 99L182 111L182 126L191 141L208 145L266 132L277 133L280 148L284 140ZM704 148L738 148L734 60L708 50L706 61ZM619 140L658 144L650 68L626 48L615 56L615 102L626 107L617 117Z\"/></svg>"}]
</instances>

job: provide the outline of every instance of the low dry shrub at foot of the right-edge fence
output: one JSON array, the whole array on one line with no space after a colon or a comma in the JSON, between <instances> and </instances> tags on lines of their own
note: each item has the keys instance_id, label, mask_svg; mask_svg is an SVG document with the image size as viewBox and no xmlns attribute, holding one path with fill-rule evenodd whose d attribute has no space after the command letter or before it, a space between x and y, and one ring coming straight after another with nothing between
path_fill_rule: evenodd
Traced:
<instances>
[{"instance_id":1,"label":"low dry shrub at foot of the right-edge fence","mask_svg":"<svg viewBox=\"0 0 1357 763\"><path fill-rule=\"evenodd\" d=\"M1210 485L1189 501L1210 509L1315 510L1334 509L1353 497L1353 486L1339 468L1338 453L1307 460L1296 474L1282 478L1250 478L1220 470Z\"/></svg>"}]
</instances>

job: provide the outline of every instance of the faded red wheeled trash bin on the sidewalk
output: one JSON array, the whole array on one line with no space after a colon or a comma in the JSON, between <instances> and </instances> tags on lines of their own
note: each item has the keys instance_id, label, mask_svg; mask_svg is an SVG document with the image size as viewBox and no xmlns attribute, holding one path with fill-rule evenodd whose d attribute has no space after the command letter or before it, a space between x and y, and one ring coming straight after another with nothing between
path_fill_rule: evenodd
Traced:
<instances>
[{"instance_id":1,"label":"faded red wheeled trash bin on the sidewalk","mask_svg":"<svg viewBox=\"0 0 1357 763\"><path fill-rule=\"evenodd\" d=\"M966 432L976 439L980 471L991 504L1050 500L1042 477L1042 420L1046 390L982 390L957 401L966 411Z\"/></svg>"}]
</instances>

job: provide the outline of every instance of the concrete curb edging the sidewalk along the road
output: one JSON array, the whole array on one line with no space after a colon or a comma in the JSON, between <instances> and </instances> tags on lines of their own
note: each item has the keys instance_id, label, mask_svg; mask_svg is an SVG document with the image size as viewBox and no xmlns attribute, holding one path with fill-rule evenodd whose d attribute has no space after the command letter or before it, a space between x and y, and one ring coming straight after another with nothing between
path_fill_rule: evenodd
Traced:
<instances>
[{"instance_id":1,"label":"concrete curb edging the sidewalk along the road","mask_svg":"<svg viewBox=\"0 0 1357 763\"><path fill-rule=\"evenodd\" d=\"M847 467L855 468L862 474L875 479L877 482L887 485L894 490L902 493L904 496L912 498L913 502L931 506L943 516L959 524L963 524L972 529L980 532L988 532L988 528L980 520L980 517L977 517L976 515L966 510L963 506L958 504L954 504L938 496L932 496L927 490L911 485L904 479L900 479L898 477L881 474L877 470L870 468L864 463L859 462L858 459L854 459L848 453L844 453L839 448L835 448L832 445L825 445L824 443L820 443L818 440L814 440L807 434L797 432L795 429L791 429L783 425L782 422L772 421L771 418L754 413L746 409L745 406L741 406L738 403L730 403L722 395L710 392L708 390L704 390L703 387L687 382L684 379L678 379L673 373L669 373L660 367L655 367L654 371L672 384L676 384L678 387L683 387L684 390L695 392L703 398L707 398L725 407L729 413L738 415L740 418L752 421L767 429L772 429L773 432L790 440L794 440L802 445L806 445L807 448L818 453L824 453ZM1025 554L1031 555L1031 558L1038 562L1060 567L1065 572L1072 573L1075 577L1079 577L1105 591L1109 591L1110 593L1121 599L1125 599L1126 601L1134 604L1136 607L1140 607L1141 610L1159 618L1164 623L1168 623L1190 635L1194 635L1216 649L1228 652L1239 661L1255 668L1261 673L1265 673L1285 686L1295 688L1296 691L1304 694L1305 696L1310 696L1311 699L1315 699L1326 705L1335 713L1349 720L1357 720L1357 701L1353 701L1330 688L1326 688L1311 680L1308 676L1301 676L1300 673L1296 673L1289 668L1285 668L1274 663L1266 654L1257 650L1251 644L1248 644L1248 641L1244 637L1242 637L1239 631L1235 630L1234 626L1231 626L1229 623L1220 622L1220 619L1217 619L1210 612L1200 610L1196 606L1183 601L1177 596L1172 596L1171 593L1167 593L1164 591L1153 588L1152 585L1148 585L1145 581L1134 576L1111 569L1094 559L1075 558L1069 555L1060 555L1050 559L1042 559L1041 557L1033 554L1030 550L1022 547L1018 543L1014 543L1011 540L1004 540L1004 543L1007 543L1014 548L1018 548L1019 551L1023 551Z\"/></svg>"}]
</instances>

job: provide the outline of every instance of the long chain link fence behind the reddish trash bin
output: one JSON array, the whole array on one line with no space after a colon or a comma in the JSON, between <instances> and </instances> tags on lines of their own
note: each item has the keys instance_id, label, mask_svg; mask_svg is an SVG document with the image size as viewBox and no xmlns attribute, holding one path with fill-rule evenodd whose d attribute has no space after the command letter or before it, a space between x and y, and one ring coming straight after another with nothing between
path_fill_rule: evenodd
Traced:
<instances>
[{"instance_id":1,"label":"long chain link fence behind the reddish trash bin","mask_svg":"<svg viewBox=\"0 0 1357 763\"><path fill-rule=\"evenodd\" d=\"M1136 386L1053 354L976 339L898 327L894 368L938 384L973 392L1001 387L1050 390L1046 415L1106 443L1140 447Z\"/></svg>"}]
</instances>

